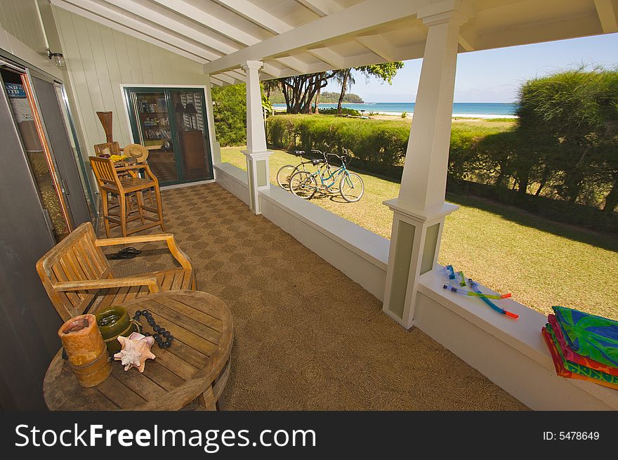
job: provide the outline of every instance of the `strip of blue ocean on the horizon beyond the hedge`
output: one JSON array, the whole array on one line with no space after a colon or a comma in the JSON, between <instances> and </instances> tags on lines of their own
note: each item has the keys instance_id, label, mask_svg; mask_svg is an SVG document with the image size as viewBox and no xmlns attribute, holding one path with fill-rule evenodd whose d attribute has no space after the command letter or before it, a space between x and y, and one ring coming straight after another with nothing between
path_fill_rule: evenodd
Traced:
<instances>
[{"instance_id":1,"label":"strip of blue ocean on the horizon beyond the hedge","mask_svg":"<svg viewBox=\"0 0 618 460\"><path fill-rule=\"evenodd\" d=\"M277 109L284 109L285 104L273 104ZM320 104L321 108L337 107L336 104ZM376 112L389 115L401 115L402 112L414 113L414 103L363 103L347 104L343 107L358 110L369 114ZM478 118L515 118L514 103L454 103L454 117Z\"/></svg>"}]
</instances>

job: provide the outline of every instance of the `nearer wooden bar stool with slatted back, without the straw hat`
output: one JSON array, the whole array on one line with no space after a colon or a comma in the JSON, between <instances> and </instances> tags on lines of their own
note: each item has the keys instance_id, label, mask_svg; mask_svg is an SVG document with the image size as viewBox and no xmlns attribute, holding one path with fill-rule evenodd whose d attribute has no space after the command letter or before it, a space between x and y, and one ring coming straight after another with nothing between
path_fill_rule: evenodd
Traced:
<instances>
[{"instance_id":1,"label":"nearer wooden bar stool with slatted back, without the straw hat","mask_svg":"<svg viewBox=\"0 0 618 460\"><path fill-rule=\"evenodd\" d=\"M120 227L123 237L157 225L160 225L161 229L165 231L159 181L147 164L116 168L114 162L109 158L89 157L89 159L103 202L103 221L105 223L105 235L108 238L111 228L117 226ZM143 171L143 178L138 177L138 171ZM129 173L129 176L119 176L119 174L125 172ZM154 190L155 202L153 203L151 200L150 206L146 206L143 193L150 190ZM119 213L110 212L108 193L118 197ZM131 197L135 197L137 207L127 206ZM131 216L131 214L135 215ZM152 214L155 214L156 217ZM142 225L131 229L126 228L127 223L137 219L140 219ZM146 223L146 221L151 222Z\"/></svg>"}]
</instances>

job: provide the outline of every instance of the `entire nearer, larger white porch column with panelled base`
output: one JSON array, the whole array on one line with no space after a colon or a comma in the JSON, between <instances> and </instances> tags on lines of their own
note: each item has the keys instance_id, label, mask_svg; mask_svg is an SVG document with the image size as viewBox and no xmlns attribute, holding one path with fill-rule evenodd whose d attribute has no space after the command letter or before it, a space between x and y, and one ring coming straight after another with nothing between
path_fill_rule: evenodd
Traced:
<instances>
[{"instance_id":1,"label":"entire nearer, larger white porch column with panelled base","mask_svg":"<svg viewBox=\"0 0 618 460\"><path fill-rule=\"evenodd\" d=\"M414 325L419 277L433 269L445 217L458 206L445 203L459 27L469 17L461 1L419 11L428 26L419 91L399 197L393 211L383 311L403 327Z\"/></svg>"}]
</instances>

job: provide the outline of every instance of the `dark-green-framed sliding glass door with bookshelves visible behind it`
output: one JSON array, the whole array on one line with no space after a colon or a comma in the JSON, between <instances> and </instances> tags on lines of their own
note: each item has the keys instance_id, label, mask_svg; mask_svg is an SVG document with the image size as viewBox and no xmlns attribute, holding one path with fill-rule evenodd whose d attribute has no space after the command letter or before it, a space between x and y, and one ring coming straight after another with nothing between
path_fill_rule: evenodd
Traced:
<instances>
[{"instance_id":1,"label":"dark-green-framed sliding glass door with bookshelves visible behind it","mask_svg":"<svg viewBox=\"0 0 618 460\"><path fill-rule=\"evenodd\" d=\"M125 88L133 142L162 185L213 178L202 88Z\"/></svg>"}]
</instances>

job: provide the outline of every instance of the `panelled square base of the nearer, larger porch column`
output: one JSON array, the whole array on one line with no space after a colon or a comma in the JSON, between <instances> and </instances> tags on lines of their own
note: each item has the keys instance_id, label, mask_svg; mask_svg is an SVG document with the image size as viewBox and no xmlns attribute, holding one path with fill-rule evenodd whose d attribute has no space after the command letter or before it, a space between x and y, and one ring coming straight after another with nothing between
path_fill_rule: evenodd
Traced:
<instances>
[{"instance_id":1,"label":"panelled square base of the nearer, larger porch column","mask_svg":"<svg viewBox=\"0 0 618 460\"><path fill-rule=\"evenodd\" d=\"M409 329L414 326L419 276L433 270L445 218L459 206L445 202L431 209L414 209L400 199L384 204L393 211L393 230L382 311Z\"/></svg>"}]
</instances>

